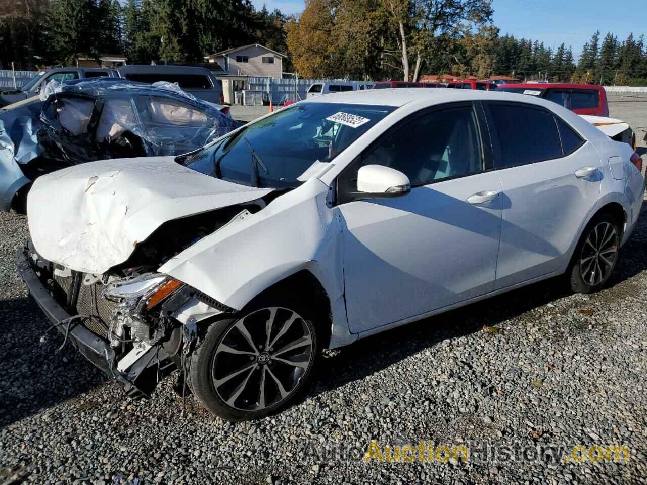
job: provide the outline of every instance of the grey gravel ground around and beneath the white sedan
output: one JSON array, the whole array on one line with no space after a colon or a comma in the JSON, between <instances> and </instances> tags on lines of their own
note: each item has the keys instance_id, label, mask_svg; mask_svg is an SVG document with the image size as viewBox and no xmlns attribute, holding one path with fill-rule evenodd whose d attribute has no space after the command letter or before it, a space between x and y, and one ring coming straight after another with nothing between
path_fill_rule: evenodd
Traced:
<instances>
[{"instance_id":1,"label":"grey gravel ground around and beneath the white sedan","mask_svg":"<svg viewBox=\"0 0 647 485\"><path fill-rule=\"evenodd\" d=\"M645 214L607 290L546 281L327 352L305 400L239 424L190 396L182 416L177 375L133 402L70 345L57 353L59 334L39 345L49 324L14 265L25 217L0 213L0 234L0 484L647 483ZM371 440L470 457L364 462ZM562 459L616 445L628 462Z\"/></svg>"}]
</instances>

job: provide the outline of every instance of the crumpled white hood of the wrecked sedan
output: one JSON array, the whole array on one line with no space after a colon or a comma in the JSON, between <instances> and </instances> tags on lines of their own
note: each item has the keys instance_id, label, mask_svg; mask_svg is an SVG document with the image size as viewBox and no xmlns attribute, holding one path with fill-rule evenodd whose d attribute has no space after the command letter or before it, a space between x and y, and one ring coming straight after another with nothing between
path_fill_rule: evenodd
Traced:
<instances>
[{"instance_id":1,"label":"crumpled white hood of the wrecked sedan","mask_svg":"<svg viewBox=\"0 0 647 485\"><path fill-rule=\"evenodd\" d=\"M39 177L27 197L27 218L45 259L103 274L166 221L271 191L209 177L172 156L102 160Z\"/></svg>"}]
</instances>

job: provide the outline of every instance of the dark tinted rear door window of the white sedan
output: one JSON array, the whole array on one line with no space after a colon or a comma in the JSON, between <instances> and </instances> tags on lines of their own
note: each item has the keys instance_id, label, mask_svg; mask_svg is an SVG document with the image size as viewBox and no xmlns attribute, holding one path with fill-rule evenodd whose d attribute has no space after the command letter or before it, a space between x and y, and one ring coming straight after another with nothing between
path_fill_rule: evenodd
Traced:
<instances>
[{"instance_id":1,"label":"dark tinted rear door window of the white sedan","mask_svg":"<svg viewBox=\"0 0 647 485\"><path fill-rule=\"evenodd\" d=\"M562 144L553 113L512 104L491 104L490 113L501 148L499 168L562 156Z\"/></svg>"}]
</instances>

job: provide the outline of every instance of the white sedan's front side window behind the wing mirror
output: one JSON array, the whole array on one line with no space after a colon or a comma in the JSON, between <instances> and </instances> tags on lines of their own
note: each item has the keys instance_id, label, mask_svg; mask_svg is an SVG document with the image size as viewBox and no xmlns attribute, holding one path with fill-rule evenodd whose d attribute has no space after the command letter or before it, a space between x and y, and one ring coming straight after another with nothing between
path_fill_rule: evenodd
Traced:
<instances>
[{"instance_id":1,"label":"white sedan's front side window behind the wing mirror","mask_svg":"<svg viewBox=\"0 0 647 485\"><path fill-rule=\"evenodd\" d=\"M463 106L423 114L369 147L338 178L338 203L352 200L357 171L366 165L399 170L411 186L483 170L474 109Z\"/></svg>"}]
</instances>

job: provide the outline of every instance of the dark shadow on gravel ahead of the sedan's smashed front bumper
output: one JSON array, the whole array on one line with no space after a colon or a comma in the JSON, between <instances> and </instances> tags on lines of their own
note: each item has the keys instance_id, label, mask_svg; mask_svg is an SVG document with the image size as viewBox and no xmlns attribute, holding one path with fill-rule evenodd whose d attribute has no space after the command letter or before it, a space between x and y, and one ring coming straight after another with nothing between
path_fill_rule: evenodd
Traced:
<instances>
[{"instance_id":1,"label":"dark shadow on gravel ahead of the sedan's smashed front bumper","mask_svg":"<svg viewBox=\"0 0 647 485\"><path fill-rule=\"evenodd\" d=\"M53 404L85 393L107 377L50 330L40 345L49 320L27 297L0 301L0 427Z\"/></svg>"}]
</instances>

